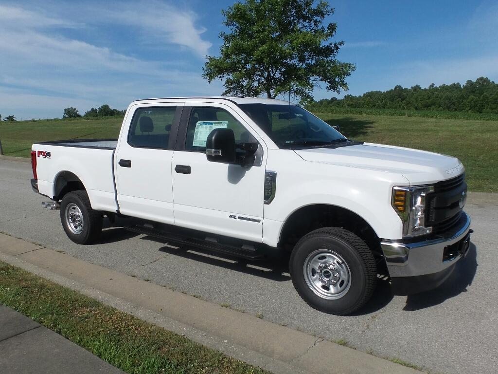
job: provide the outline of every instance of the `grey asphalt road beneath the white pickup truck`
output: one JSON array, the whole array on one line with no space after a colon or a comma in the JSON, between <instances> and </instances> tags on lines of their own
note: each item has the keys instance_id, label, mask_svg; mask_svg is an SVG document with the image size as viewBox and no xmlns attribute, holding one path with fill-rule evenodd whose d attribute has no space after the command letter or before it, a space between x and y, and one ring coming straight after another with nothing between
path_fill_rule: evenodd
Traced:
<instances>
[{"instance_id":1,"label":"grey asphalt road beneath the white pickup truck","mask_svg":"<svg viewBox=\"0 0 498 374\"><path fill-rule=\"evenodd\" d=\"M82 246L62 230L59 211L41 207L28 163L0 160L0 231L77 258L196 295L381 357L435 373L498 373L498 207L468 204L475 233L470 252L439 289L392 296L379 280L355 316L318 312L294 290L287 260L244 264L172 249L144 235L108 227L102 241Z\"/></svg>"}]
</instances>

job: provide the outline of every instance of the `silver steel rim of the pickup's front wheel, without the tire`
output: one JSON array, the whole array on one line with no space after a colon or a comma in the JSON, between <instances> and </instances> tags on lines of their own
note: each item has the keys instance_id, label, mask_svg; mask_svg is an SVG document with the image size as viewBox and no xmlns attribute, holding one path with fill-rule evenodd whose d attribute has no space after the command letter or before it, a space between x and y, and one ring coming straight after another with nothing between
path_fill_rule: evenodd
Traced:
<instances>
[{"instance_id":1,"label":"silver steel rim of the pickup's front wheel, without the tire","mask_svg":"<svg viewBox=\"0 0 498 374\"><path fill-rule=\"evenodd\" d=\"M334 251L319 249L311 252L304 261L303 271L308 287L322 299L340 299L351 287L349 266Z\"/></svg>"}]
</instances>

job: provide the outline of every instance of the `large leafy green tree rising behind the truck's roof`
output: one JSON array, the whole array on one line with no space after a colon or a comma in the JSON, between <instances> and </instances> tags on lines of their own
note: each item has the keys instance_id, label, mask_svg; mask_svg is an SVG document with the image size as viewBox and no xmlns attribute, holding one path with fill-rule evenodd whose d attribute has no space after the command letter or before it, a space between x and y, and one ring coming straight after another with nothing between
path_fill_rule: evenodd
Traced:
<instances>
[{"instance_id":1,"label":"large leafy green tree rising behind the truck's roof","mask_svg":"<svg viewBox=\"0 0 498 374\"><path fill-rule=\"evenodd\" d=\"M355 65L336 59L344 41L331 40L336 23L323 23L333 13L327 1L237 2L222 10L230 31L220 33L220 56L207 56L203 75L224 80L224 95L290 93L309 102L320 82L330 91L347 90Z\"/></svg>"}]
</instances>

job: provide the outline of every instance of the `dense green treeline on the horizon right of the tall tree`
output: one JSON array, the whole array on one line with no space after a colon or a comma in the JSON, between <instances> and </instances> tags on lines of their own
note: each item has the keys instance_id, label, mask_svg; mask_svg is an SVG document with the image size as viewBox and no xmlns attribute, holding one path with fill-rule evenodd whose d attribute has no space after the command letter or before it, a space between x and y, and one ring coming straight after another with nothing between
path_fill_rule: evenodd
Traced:
<instances>
[{"instance_id":1,"label":"dense green treeline on the horizon right of the tall tree","mask_svg":"<svg viewBox=\"0 0 498 374\"><path fill-rule=\"evenodd\" d=\"M396 86L388 91L370 91L344 99L322 99L307 106L314 111L326 108L365 108L425 110L498 114L498 84L488 78L427 88L418 84L411 88Z\"/></svg>"}]
</instances>

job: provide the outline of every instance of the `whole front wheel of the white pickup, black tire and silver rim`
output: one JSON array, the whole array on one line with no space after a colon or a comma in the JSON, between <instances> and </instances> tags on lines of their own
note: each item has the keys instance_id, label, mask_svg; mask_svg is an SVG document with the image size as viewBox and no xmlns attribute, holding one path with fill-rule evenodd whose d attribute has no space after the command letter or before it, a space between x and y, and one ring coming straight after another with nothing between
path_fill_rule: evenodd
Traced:
<instances>
[{"instance_id":1,"label":"whole front wheel of the white pickup, black tire and silver rim","mask_svg":"<svg viewBox=\"0 0 498 374\"><path fill-rule=\"evenodd\" d=\"M326 256L321 256L321 253ZM319 272L314 269L318 263ZM334 269L332 272L327 272L329 266ZM343 277L343 274L348 274L345 269L349 275ZM290 274L294 287L308 305L325 313L347 315L364 306L372 296L377 267L372 251L357 235L340 227L324 227L303 236L294 246ZM339 289L342 286L343 290L334 294L331 281L335 281L332 284Z\"/></svg>"}]
</instances>

